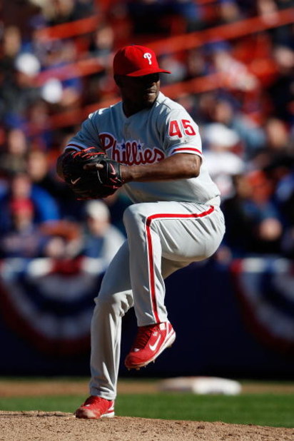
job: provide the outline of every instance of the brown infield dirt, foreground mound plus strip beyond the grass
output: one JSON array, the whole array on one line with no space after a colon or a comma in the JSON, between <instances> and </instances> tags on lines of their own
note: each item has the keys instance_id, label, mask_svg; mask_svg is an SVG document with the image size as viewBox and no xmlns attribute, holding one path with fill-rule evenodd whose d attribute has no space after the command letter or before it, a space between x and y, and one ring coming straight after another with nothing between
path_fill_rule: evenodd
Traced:
<instances>
[{"instance_id":1,"label":"brown infield dirt, foreground mound plus strip beyond the grass","mask_svg":"<svg viewBox=\"0 0 294 441\"><path fill-rule=\"evenodd\" d=\"M34 387L33 387L34 384ZM265 391L265 386L250 385L250 392ZM131 390L130 390L131 388ZM278 391L284 389L278 387ZM2 397L85 393L86 383L5 382L0 381ZM146 382L124 383L119 392L154 392ZM288 387L283 392L293 392ZM235 425L223 422L151 420L114 417L103 420L77 420L64 412L8 412L0 410L0 441L294 441L294 429Z\"/></svg>"}]
</instances>

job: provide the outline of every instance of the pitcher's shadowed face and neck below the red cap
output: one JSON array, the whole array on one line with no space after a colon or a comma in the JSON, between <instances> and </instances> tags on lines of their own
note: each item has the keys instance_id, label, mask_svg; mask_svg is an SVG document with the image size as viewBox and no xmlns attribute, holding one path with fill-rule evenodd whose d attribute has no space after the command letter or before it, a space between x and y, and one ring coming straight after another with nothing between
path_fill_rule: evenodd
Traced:
<instances>
[{"instance_id":1,"label":"pitcher's shadowed face and neck below the red cap","mask_svg":"<svg viewBox=\"0 0 294 441\"><path fill-rule=\"evenodd\" d=\"M159 93L159 74L121 76L118 79L123 98L123 109L129 115L151 107Z\"/></svg>"}]
</instances>

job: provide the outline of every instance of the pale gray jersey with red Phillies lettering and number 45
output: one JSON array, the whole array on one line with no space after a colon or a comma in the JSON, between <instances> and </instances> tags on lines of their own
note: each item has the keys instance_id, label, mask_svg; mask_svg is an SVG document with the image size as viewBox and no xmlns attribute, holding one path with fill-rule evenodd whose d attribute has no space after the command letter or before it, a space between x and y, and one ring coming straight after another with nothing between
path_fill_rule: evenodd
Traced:
<instances>
[{"instance_id":1,"label":"pale gray jersey with red Phillies lettering and number 45","mask_svg":"<svg viewBox=\"0 0 294 441\"><path fill-rule=\"evenodd\" d=\"M91 113L74 138L71 148L99 146L110 158L132 166L151 164L177 153L202 158L198 178L176 181L131 182L123 188L131 201L186 201L206 203L220 192L211 180L202 156L197 124L180 104L159 93L152 108L128 118L122 102Z\"/></svg>"}]
</instances>

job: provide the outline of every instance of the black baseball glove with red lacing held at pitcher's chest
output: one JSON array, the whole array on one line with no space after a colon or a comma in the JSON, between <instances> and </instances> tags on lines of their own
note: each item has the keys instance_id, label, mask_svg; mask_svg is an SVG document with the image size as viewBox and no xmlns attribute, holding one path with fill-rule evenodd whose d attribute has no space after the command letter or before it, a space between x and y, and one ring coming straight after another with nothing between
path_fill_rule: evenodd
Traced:
<instances>
[{"instance_id":1,"label":"black baseball glove with red lacing held at pitcher's chest","mask_svg":"<svg viewBox=\"0 0 294 441\"><path fill-rule=\"evenodd\" d=\"M120 164L96 147L65 151L57 171L77 199L106 198L123 185Z\"/></svg>"}]
</instances>

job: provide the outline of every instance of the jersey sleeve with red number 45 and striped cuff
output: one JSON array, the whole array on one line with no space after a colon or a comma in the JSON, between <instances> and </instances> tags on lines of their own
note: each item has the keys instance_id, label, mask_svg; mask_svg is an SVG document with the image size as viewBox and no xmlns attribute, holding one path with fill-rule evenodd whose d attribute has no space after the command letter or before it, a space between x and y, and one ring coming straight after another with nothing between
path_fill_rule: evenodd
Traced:
<instances>
[{"instance_id":1,"label":"jersey sleeve with red number 45 and striped cuff","mask_svg":"<svg viewBox=\"0 0 294 441\"><path fill-rule=\"evenodd\" d=\"M163 149L167 156L192 153L202 158L199 128L184 108L169 111L163 121Z\"/></svg>"}]
</instances>

